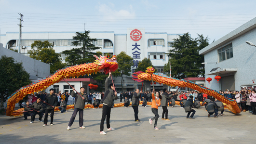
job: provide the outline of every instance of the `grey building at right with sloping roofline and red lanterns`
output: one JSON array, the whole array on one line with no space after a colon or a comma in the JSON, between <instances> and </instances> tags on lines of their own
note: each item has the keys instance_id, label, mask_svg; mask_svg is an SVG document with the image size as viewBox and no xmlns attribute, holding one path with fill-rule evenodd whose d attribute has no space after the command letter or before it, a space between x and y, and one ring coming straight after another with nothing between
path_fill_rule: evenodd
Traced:
<instances>
[{"instance_id":1,"label":"grey building at right with sloping roofline and red lanterns","mask_svg":"<svg viewBox=\"0 0 256 144\"><path fill-rule=\"evenodd\" d=\"M243 24L224 37L203 48L205 78L212 78L206 87L222 90L241 90L243 87L256 88L256 18ZM219 82L215 76L220 76Z\"/></svg>"}]
</instances>

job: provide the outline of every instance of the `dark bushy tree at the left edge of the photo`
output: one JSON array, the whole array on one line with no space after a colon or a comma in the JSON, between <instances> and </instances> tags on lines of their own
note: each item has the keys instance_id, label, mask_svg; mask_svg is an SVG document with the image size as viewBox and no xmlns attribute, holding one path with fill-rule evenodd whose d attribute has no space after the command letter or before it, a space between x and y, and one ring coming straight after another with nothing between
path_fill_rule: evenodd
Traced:
<instances>
[{"instance_id":1,"label":"dark bushy tree at the left edge of the photo","mask_svg":"<svg viewBox=\"0 0 256 144\"><path fill-rule=\"evenodd\" d=\"M0 67L1 109L8 96L12 95L19 88L28 85L31 81L22 63L17 63L13 57L1 56Z\"/></svg>"}]
</instances>

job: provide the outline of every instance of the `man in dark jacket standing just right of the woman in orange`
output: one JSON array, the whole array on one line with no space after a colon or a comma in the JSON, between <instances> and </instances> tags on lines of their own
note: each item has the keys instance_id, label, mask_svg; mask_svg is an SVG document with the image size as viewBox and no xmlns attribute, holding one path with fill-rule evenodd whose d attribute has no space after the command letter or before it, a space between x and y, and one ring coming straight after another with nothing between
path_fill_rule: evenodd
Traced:
<instances>
[{"instance_id":1,"label":"man in dark jacket standing just right of the woman in orange","mask_svg":"<svg viewBox=\"0 0 256 144\"><path fill-rule=\"evenodd\" d=\"M161 100L161 106L162 106L162 119L164 120L170 120L168 118L168 101L170 100L171 96L170 94L167 94L167 89L163 89L162 90L162 100ZM164 114L165 114L165 118L164 118Z\"/></svg>"}]
</instances>

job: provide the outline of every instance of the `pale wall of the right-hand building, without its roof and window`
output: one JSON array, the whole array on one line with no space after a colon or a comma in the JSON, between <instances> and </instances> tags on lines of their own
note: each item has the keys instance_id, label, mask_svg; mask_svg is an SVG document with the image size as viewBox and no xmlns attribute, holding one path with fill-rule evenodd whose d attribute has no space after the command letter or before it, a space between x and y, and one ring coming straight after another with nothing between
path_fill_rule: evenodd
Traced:
<instances>
[{"instance_id":1,"label":"pale wall of the right-hand building, without its roof and window","mask_svg":"<svg viewBox=\"0 0 256 144\"><path fill-rule=\"evenodd\" d=\"M235 89L240 90L240 86L242 85L255 85L252 80L256 78L256 47L250 46L245 43L245 41L251 41L256 44L256 28L253 30L243 34L240 37L235 39L231 39L226 42L222 46L219 46L215 50L208 52L204 55L205 62L218 62L218 52L219 48L226 46L227 44L232 42L233 46L233 58L229 58L228 60L218 62L217 64L206 64L205 65L205 74L209 73L212 68L220 67L223 68L237 68L237 72L234 74L235 76ZM214 79L215 76L209 76L213 80L208 84L206 81L206 87L221 90L221 82L217 83ZM208 78L208 76L205 76Z\"/></svg>"}]
</instances>

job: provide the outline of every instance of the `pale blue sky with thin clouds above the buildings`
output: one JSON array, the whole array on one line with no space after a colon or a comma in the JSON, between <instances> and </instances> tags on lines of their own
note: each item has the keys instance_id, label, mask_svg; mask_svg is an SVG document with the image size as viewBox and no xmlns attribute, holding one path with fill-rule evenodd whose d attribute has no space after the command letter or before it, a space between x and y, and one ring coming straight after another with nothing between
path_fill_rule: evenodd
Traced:
<instances>
[{"instance_id":1,"label":"pale blue sky with thin clouds above the buildings","mask_svg":"<svg viewBox=\"0 0 256 144\"><path fill-rule=\"evenodd\" d=\"M0 0L0 34L19 31L114 31L227 35L256 17L256 0Z\"/></svg>"}]
</instances>

